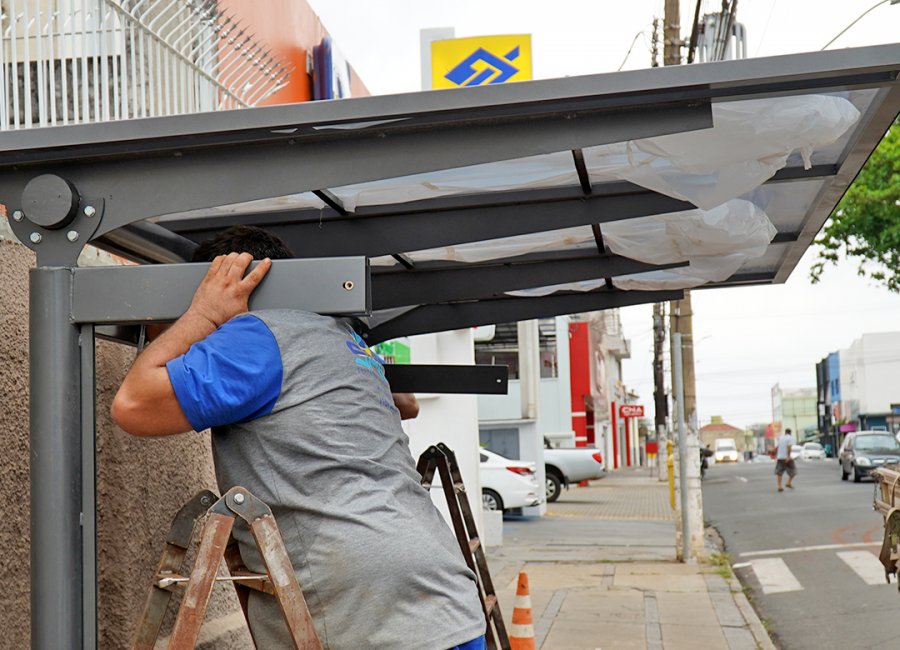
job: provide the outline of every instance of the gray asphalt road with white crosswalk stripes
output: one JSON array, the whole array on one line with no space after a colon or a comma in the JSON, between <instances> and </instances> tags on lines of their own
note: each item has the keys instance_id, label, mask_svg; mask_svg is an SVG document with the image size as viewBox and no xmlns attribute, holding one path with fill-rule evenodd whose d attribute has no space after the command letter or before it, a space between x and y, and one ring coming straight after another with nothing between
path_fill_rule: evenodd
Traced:
<instances>
[{"instance_id":1,"label":"gray asphalt road with white crosswalk stripes","mask_svg":"<svg viewBox=\"0 0 900 650\"><path fill-rule=\"evenodd\" d=\"M834 459L805 461L796 489L778 493L773 470L771 462L712 466L703 506L776 643L900 648L900 593L876 557L874 483L841 481Z\"/></svg>"}]
</instances>

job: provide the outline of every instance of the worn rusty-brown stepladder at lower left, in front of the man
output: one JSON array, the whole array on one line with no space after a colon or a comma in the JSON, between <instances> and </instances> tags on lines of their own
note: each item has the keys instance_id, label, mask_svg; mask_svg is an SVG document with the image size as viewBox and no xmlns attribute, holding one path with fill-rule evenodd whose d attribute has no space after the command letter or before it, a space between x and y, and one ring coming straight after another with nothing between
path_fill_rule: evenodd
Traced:
<instances>
[{"instance_id":1,"label":"worn rusty-brown stepladder at lower left, in front of the man","mask_svg":"<svg viewBox=\"0 0 900 650\"><path fill-rule=\"evenodd\" d=\"M204 517L193 566L190 574L184 575L182 565ZM238 518L250 529L265 565L263 573L248 571L241 561L237 542L231 534ZM225 570L221 569L223 560ZM155 647L174 591L183 593L167 647L169 650L194 648L213 588L222 581L234 585L245 618L250 590L265 592L278 601L293 647L296 650L321 650L272 511L242 487L233 487L222 497L203 490L179 510L166 537L165 549L134 637L133 650ZM250 632L252 635L252 627Z\"/></svg>"}]
</instances>

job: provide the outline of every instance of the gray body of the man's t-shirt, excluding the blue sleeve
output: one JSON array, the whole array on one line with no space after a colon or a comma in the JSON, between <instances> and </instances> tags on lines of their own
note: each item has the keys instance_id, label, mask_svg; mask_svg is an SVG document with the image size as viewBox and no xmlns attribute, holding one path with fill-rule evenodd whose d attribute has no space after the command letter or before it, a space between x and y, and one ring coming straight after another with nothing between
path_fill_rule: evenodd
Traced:
<instances>
[{"instance_id":1,"label":"gray body of the man's t-shirt, excluding the blue sleeve","mask_svg":"<svg viewBox=\"0 0 900 650\"><path fill-rule=\"evenodd\" d=\"M281 391L267 415L213 430L219 488L272 508L323 646L441 650L484 634L475 576L419 483L377 357L342 320L252 315L277 342ZM248 529L234 534L262 571ZM274 598L253 592L249 614L261 650L291 647Z\"/></svg>"}]
</instances>

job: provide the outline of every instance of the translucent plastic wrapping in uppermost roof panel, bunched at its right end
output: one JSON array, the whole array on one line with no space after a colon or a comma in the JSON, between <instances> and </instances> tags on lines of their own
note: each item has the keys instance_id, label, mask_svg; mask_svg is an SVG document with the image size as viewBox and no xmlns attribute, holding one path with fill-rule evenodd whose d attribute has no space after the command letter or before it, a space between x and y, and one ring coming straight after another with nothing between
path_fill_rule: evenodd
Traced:
<instances>
[{"instance_id":1,"label":"translucent plastic wrapping in uppermost roof panel, bunched at its right end","mask_svg":"<svg viewBox=\"0 0 900 650\"><path fill-rule=\"evenodd\" d=\"M713 128L587 147L592 183L631 181L709 209L758 187L799 150L837 141L859 119L838 95L800 95L713 104ZM574 185L568 151L332 188L349 209L451 194Z\"/></svg>"}]
</instances>

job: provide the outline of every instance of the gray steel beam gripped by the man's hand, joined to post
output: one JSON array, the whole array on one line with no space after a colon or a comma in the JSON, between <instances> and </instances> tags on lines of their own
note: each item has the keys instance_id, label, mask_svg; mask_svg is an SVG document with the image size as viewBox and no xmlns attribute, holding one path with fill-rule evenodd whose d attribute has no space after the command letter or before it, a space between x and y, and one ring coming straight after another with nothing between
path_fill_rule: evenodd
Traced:
<instances>
[{"instance_id":1,"label":"gray steel beam gripped by the man's hand, joined to post","mask_svg":"<svg viewBox=\"0 0 900 650\"><path fill-rule=\"evenodd\" d=\"M72 269L76 323L171 321L191 304L209 264ZM369 313L368 260L362 257L275 260L250 297L251 309L292 308L321 314Z\"/></svg>"}]
</instances>

